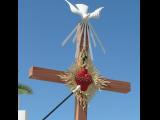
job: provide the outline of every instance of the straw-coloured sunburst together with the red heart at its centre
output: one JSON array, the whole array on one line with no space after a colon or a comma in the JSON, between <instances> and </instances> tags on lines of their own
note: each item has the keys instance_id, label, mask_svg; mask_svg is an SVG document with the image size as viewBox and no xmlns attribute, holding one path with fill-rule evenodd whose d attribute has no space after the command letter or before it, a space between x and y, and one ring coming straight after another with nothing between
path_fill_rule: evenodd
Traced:
<instances>
[{"instance_id":1,"label":"straw-coloured sunburst together with the red heart at its centre","mask_svg":"<svg viewBox=\"0 0 160 120\"><path fill-rule=\"evenodd\" d=\"M107 86L109 81L101 79L102 76L94 67L90 55L86 50L82 50L76 62L67 70L65 75L59 75L74 90L77 85L81 85L81 89L75 92L77 100L80 102L83 110L86 110L87 103L90 101L96 90L100 90Z\"/></svg>"}]
</instances>

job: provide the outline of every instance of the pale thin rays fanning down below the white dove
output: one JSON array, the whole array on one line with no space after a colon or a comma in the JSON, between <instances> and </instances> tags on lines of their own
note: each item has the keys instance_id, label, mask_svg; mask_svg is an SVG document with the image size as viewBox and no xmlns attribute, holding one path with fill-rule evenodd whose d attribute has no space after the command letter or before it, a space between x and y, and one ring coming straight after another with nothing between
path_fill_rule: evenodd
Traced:
<instances>
[{"instance_id":1,"label":"pale thin rays fanning down below the white dove","mask_svg":"<svg viewBox=\"0 0 160 120\"><path fill-rule=\"evenodd\" d=\"M78 37L81 39L78 40ZM73 43L76 42L75 58L78 57L81 45L82 45L82 48L86 48L87 44L88 44L89 54L91 56L91 59L93 60L93 51L92 51L91 41L92 41L94 47L96 47L96 42L98 42L103 53L104 54L106 53L105 48L104 48L102 42L100 41L98 35L96 34L93 26L86 21L82 21L76 25L76 27L71 31L71 33L62 42L62 46L64 47L70 39L72 39Z\"/></svg>"}]
</instances>

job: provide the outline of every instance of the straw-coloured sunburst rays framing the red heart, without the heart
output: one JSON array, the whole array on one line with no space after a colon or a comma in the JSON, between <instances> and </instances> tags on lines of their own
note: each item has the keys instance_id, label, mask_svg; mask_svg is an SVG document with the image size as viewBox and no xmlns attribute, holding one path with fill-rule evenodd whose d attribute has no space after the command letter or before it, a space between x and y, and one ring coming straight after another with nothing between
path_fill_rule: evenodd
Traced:
<instances>
[{"instance_id":1,"label":"straw-coloured sunburst rays framing the red heart, without the heart","mask_svg":"<svg viewBox=\"0 0 160 120\"><path fill-rule=\"evenodd\" d=\"M82 61L82 59L81 59L81 56L83 56L82 54L86 54L86 53L83 53L83 52L86 52L86 51L82 50L80 52L79 57L77 58L76 62L68 69L66 74L65 75L59 75L59 76L62 80L64 80L66 82L66 85L72 91L77 86L77 83L75 81L76 73L81 69L81 67L84 66L84 64L85 64L85 66L87 66L87 70L91 74L93 81L89 85L89 87L86 91L81 91L80 90L80 91L77 91L77 92L74 93L77 100L80 102L80 105L82 106L83 110L85 110L88 102L91 100L91 98L93 97L95 92L97 90L103 88L104 86L106 86L109 82L101 79L102 76L99 75L98 70L92 64L92 60L91 60L91 57L89 55L88 55L88 59L87 59L86 63L84 63L84 61Z\"/></svg>"}]
</instances>

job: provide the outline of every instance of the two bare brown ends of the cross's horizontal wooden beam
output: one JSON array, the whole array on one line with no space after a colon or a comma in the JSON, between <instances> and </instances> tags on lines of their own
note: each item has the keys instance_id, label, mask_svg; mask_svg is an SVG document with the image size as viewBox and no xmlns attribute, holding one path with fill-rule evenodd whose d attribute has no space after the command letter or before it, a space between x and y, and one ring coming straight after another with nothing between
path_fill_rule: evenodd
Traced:
<instances>
[{"instance_id":1,"label":"two bare brown ends of the cross's horizontal wooden beam","mask_svg":"<svg viewBox=\"0 0 160 120\"><path fill-rule=\"evenodd\" d=\"M29 78L50 81L50 82L64 83L64 81L62 81L61 78L58 76L58 75L64 75L64 74L65 74L64 71L51 70L51 69L45 69L40 67L31 67L29 71ZM128 93L130 91L129 82L111 80L106 78L102 78L102 79L111 82L108 84L108 86L105 86L102 90L109 90L109 91L119 92L119 93Z\"/></svg>"}]
</instances>

